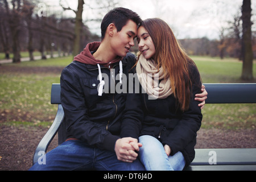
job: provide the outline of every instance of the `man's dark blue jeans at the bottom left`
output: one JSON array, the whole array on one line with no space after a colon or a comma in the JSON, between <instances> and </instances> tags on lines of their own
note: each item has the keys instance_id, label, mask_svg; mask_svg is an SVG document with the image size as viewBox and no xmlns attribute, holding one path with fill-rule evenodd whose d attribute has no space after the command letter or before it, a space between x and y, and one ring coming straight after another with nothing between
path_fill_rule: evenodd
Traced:
<instances>
[{"instance_id":1,"label":"man's dark blue jeans at the bottom left","mask_svg":"<svg viewBox=\"0 0 256 182\"><path fill-rule=\"evenodd\" d=\"M30 171L144 171L139 159L133 163L121 162L115 152L88 146L80 140L69 140L47 152L46 164L36 163Z\"/></svg>"}]
</instances>

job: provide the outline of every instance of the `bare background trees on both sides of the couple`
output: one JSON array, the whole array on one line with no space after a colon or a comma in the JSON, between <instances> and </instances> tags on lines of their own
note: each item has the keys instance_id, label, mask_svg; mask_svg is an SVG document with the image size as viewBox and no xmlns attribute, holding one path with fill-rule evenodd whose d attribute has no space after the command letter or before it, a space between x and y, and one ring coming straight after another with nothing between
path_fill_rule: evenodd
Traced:
<instances>
[{"instance_id":1,"label":"bare background trees on both sides of the couple","mask_svg":"<svg viewBox=\"0 0 256 182\"><path fill-rule=\"evenodd\" d=\"M49 8L51 5L39 0L0 1L0 52L6 57L12 52L13 62L20 62L20 51L28 51L30 60L33 52L39 51L42 59L46 52L77 55L88 42L100 41L100 37L90 32L86 22L100 22L104 14L113 7L120 6L117 0L76 0L77 8L72 9L65 0L59 1L61 10ZM151 0L154 2L155 0ZM158 5L159 1L155 1ZM160 6L160 5L159 5ZM161 4L161 7L163 5ZM82 14L91 10L94 19L83 19ZM159 8L158 8L159 10ZM75 18L64 16L71 11ZM243 0L241 9L229 20L228 26L219 30L219 39L209 38L180 40L189 55L209 55L235 57L243 61L242 78L253 79L253 58L256 58L256 32L251 32L251 1ZM91 28L91 27L90 27ZM133 51L137 51L134 47Z\"/></svg>"}]
</instances>

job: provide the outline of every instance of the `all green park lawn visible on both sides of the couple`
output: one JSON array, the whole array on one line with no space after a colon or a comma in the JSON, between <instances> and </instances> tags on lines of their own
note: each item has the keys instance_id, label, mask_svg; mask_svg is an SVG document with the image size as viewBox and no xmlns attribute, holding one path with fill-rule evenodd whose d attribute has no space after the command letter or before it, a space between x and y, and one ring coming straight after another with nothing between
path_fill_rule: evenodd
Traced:
<instances>
[{"instance_id":1,"label":"all green park lawn visible on both sides of the couple","mask_svg":"<svg viewBox=\"0 0 256 182\"><path fill-rule=\"evenodd\" d=\"M241 82L242 63L234 59L220 60L192 56L204 83ZM65 67L73 57L27 61L2 67ZM254 63L254 76L256 65ZM60 73L0 72L0 124L44 125L49 127L57 106L50 104L51 85L60 82ZM207 104L203 112L203 128L255 129L256 104Z\"/></svg>"}]
</instances>

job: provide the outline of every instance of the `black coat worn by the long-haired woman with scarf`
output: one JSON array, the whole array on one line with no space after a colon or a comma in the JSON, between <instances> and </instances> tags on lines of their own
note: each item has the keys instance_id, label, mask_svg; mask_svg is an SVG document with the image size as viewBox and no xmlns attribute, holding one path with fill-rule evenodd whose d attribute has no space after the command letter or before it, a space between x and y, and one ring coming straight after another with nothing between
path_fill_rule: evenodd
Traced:
<instances>
[{"instance_id":1,"label":"black coat worn by the long-haired woman with scarf","mask_svg":"<svg viewBox=\"0 0 256 182\"><path fill-rule=\"evenodd\" d=\"M173 94L162 100L150 100L146 93L129 93L121 137L151 135L158 138L163 145L171 147L171 155L182 152L188 166L195 158L196 133L203 118L198 106L200 102L195 101L195 94L201 93L200 74L195 65L189 73L192 78L192 95L189 109L184 112L178 109Z\"/></svg>"}]
</instances>

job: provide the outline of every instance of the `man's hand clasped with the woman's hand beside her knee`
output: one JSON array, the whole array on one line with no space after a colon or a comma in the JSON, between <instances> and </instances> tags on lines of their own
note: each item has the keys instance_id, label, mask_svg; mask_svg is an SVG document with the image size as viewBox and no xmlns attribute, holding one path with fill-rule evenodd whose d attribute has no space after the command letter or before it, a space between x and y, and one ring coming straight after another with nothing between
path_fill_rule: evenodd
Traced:
<instances>
[{"instance_id":1,"label":"man's hand clasped with the woman's hand beside her knee","mask_svg":"<svg viewBox=\"0 0 256 182\"><path fill-rule=\"evenodd\" d=\"M118 139L115 142L115 154L117 159L123 162L132 163L137 159L138 154L135 151L139 151L139 147L142 144L138 143L135 138L127 137Z\"/></svg>"}]
</instances>

